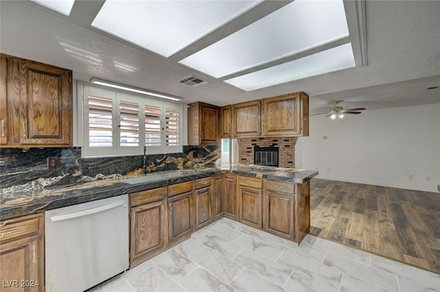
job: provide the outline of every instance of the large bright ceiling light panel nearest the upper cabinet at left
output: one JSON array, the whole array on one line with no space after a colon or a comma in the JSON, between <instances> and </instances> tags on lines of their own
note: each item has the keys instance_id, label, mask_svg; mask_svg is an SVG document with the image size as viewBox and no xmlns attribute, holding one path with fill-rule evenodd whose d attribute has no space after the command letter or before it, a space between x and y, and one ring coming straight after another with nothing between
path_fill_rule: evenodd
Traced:
<instances>
[{"instance_id":1,"label":"large bright ceiling light panel nearest the upper cabinet at left","mask_svg":"<svg viewBox=\"0 0 440 292\"><path fill-rule=\"evenodd\" d=\"M91 25L168 57L260 1L107 0Z\"/></svg>"}]
</instances>

